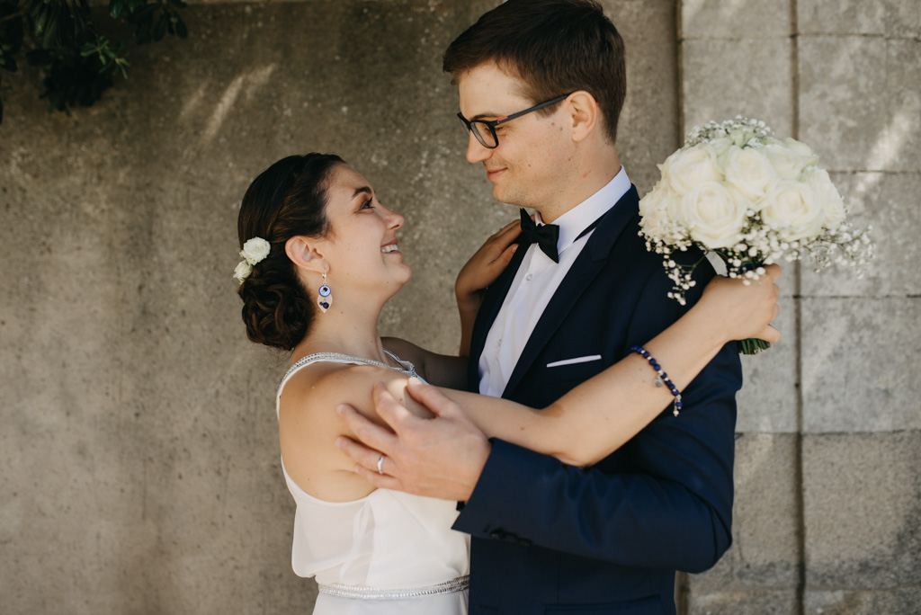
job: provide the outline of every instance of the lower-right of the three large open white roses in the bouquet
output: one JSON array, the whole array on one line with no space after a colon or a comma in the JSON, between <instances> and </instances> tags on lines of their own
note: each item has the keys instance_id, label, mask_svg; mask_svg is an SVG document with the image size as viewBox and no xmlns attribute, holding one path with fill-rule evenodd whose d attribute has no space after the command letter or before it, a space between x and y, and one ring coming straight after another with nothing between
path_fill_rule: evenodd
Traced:
<instances>
[{"instance_id":1,"label":"lower-right of the three large open white roses in the bouquet","mask_svg":"<svg viewBox=\"0 0 921 615\"><path fill-rule=\"evenodd\" d=\"M807 184L782 180L767 193L761 218L781 238L795 241L817 237L822 232L825 212Z\"/></svg>"}]
</instances>

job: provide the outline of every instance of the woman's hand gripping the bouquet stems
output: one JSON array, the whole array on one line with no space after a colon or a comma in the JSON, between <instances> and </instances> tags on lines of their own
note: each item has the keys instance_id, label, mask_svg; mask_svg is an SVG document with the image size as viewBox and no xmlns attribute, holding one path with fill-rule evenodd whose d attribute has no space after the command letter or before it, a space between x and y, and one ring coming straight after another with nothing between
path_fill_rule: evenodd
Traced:
<instances>
[{"instance_id":1,"label":"woman's hand gripping the bouquet stems","mask_svg":"<svg viewBox=\"0 0 921 615\"><path fill-rule=\"evenodd\" d=\"M780 312L780 289L775 284L778 277L778 265L765 266L764 275L748 285L738 278L717 275L694 308L709 310L708 318L719 319L727 341L755 338L779 342L780 331L770 324Z\"/></svg>"}]
</instances>

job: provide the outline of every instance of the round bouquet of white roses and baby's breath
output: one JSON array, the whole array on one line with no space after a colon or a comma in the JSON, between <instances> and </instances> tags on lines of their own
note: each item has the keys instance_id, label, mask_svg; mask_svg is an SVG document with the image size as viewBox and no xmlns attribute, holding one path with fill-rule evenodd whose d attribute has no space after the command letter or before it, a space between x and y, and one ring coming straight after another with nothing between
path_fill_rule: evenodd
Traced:
<instances>
[{"instance_id":1,"label":"round bouquet of white roses and baby's breath","mask_svg":"<svg viewBox=\"0 0 921 615\"><path fill-rule=\"evenodd\" d=\"M816 271L833 261L857 267L873 256L867 235L845 219L845 205L809 145L771 136L764 122L740 116L688 133L684 146L659 165L662 178L639 203L640 236L662 255L682 305L694 286L694 265L672 257L696 245L716 253L729 277L746 284L764 269L809 253ZM768 348L740 342L744 354Z\"/></svg>"}]
</instances>

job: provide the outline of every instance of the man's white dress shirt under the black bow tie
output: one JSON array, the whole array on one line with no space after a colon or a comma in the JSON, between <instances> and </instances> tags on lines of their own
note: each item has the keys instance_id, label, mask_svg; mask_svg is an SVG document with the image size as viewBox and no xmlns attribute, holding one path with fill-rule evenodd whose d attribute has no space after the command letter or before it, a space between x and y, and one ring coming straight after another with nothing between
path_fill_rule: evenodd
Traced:
<instances>
[{"instance_id":1,"label":"man's white dress shirt under the black bow tie","mask_svg":"<svg viewBox=\"0 0 921 615\"><path fill-rule=\"evenodd\" d=\"M628 190L630 180L621 167L604 188L554 220L554 224L560 227L556 241L560 256L558 263L544 254L537 244L530 245L508 288L502 308L486 335L479 363L481 393L502 396L544 308L594 230L577 238L579 233L611 209ZM536 222L542 224L540 215Z\"/></svg>"}]
</instances>

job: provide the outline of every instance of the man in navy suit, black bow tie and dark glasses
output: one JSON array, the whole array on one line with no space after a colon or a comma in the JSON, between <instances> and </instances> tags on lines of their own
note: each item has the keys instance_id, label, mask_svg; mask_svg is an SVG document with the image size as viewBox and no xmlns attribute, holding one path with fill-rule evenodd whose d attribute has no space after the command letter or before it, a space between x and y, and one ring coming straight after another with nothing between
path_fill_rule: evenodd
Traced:
<instances>
[{"instance_id":1,"label":"man in navy suit, black bow tie and dark glasses","mask_svg":"<svg viewBox=\"0 0 921 615\"><path fill-rule=\"evenodd\" d=\"M528 233L555 237L519 247L488 289L470 354L472 390L541 408L686 309L637 236L638 195L617 156L624 44L595 3L508 0L451 43L444 69L467 159L495 199L556 226ZM689 302L713 275L705 262L697 272ZM487 441L437 399L438 418L393 424L399 444L382 452L407 491L465 503L454 528L472 536L471 612L674 613L675 570L701 572L729 548L740 386L724 348L682 391L679 416L666 410L588 469ZM344 448L366 466L378 457Z\"/></svg>"}]
</instances>

